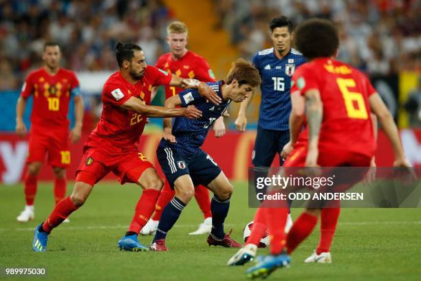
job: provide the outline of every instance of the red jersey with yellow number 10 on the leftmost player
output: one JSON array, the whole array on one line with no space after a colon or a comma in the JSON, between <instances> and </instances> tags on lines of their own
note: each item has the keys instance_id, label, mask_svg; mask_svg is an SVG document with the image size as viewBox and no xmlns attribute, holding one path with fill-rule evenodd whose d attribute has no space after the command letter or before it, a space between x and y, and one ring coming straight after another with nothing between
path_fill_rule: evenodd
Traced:
<instances>
[{"instance_id":1,"label":"red jersey with yellow number 10 on the leftmost player","mask_svg":"<svg viewBox=\"0 0 421 281\"><path fill-rule=\"evenodd\" d=\"M21 96L34 95L31 122L33 128L63 127L68 129L71 92L79 87L76 74L60 68L54 75L44 67L30 72L22 87Z\"/></svg>"}]
</instances>

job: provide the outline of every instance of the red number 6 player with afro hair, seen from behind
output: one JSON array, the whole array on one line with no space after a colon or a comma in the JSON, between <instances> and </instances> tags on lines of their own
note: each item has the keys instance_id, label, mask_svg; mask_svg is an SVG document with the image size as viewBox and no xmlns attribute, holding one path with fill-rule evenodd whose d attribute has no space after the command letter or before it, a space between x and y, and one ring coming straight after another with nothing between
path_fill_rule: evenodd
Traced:
<instances>
[{"instance_id":1,"label":"red number 6 player with afro hair, seen from behind","mask_svg":"<svg viewBox=\"0 0 421 281\"><path fill-rule=\"evenodd\" d=\"M391 142L393 165L409 167L393 118L367 77L332 59L339 46L333 23L323 19L304 21L296 30L296 46L309 59L292 77L302 98L299 104L305 107L303 114L299 114L302 121L305 116L307 123L301 134L304 139L307 134L308 139L305 145L294 146L284 167L369 167L376 151L370 110ZM322 212L306 209L285 235L281 230L285 227L288 206L286 202L283 205L264 209L270 255L246 271L250 278L266 278L278 267L290 264L290 254L310 235Z\"/></svg>"}]
</instances>

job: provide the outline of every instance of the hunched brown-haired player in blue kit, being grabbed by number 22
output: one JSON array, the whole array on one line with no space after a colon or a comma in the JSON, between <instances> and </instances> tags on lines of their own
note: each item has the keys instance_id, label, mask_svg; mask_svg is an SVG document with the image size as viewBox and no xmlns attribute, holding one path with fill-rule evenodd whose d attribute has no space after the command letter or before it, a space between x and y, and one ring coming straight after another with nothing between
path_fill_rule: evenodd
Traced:
<instances>
[{"instance_id":1,"label":"hunched brown-haired player in blue kit, being grabbed by number 22","mask_svg":"<svg viewBox=\"0 0 421 281\"><path fill-rule=\"evenodd\" d=\"M167 251L166 234L179 218L182 210L195 195L195 186L201 184L213 191L210 202L212 230L208 236L209 245L241 247L241 244L224 232L224 221L233 194L233 185L226 178L217 163L200 147L204 143L211 125L228 108L231 101L239 103L250 96L261 82L258 70L252 63L237 59L228 72L226 81L208 83L222 98L222 103L213 105L195 90L186 90L165 101L165 107L195 105L202 111L202 117L191 122L187 118L164 118L164 132L157 149L162 171L175 196L166 205L151 243L153 251Z\"/></svg>"}]
</instances>

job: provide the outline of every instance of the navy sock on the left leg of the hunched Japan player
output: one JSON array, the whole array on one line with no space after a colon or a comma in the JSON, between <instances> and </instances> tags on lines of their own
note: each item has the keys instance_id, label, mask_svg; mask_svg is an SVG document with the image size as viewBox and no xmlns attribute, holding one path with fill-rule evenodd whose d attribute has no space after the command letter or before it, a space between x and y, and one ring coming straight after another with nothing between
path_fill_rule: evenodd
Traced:
<instances>
[{"instance_id":1,"label":"navy sock on the left leg of the hunched Japan player","mask_svg":"<svg viewBox=\"0 0 421 281\"><path fill-rule=\"evenodd\" d=\"M186 204L182 200L174 197L169 204L166 205L164 211L162 211L162 216L160 223L158 224L158 229L156 229L155 237L152 242L156 240L165 239L166 233L173 227L175 222L180 217L182 210L186 207Z\"/></svg>"}]
</instances>

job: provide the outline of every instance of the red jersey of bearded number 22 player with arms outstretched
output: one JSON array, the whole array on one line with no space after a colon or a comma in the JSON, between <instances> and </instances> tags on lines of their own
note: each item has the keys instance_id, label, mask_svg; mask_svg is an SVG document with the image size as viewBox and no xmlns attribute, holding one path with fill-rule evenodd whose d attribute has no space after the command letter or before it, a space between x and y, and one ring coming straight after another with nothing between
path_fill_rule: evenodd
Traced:
<instances>
[{"instance_id":1,"label":"red jersey of bearded number 22 player with arms outstretched","mask_svg":"<svg viewBox=\"0 0 421 281\"><path fill-rule=\"evenodd\" d=\"M85 143L85 147L104 147L111 152L137 149L136 143L143 132L147 117L120 107L131 96L151 103L153 86L169 85L171 74L147 66L136 85L129 83L120 72L112 74L102 89L102 114L100 121Z\"/></svg>"}]
</instances>

